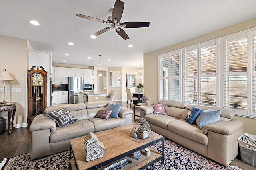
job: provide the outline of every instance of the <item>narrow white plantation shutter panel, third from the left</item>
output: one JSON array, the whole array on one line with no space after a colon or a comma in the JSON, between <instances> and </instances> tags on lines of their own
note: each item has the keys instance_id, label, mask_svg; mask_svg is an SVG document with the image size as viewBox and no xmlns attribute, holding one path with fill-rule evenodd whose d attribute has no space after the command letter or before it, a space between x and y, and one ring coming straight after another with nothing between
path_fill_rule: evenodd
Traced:
<instances>
[{"instance_id":1,"label":"narrow white plantation shutter panel, third from the left","mask_svg":"<svg viewBox=\"0 0 256 170\"><path fill-rule=\"evenodd\" d=\"M187 103L197 103L198 100L198 60L196 46L188 47L183 50L184 66L183 66L183 101Z\"/></svg>"}]
</instances>

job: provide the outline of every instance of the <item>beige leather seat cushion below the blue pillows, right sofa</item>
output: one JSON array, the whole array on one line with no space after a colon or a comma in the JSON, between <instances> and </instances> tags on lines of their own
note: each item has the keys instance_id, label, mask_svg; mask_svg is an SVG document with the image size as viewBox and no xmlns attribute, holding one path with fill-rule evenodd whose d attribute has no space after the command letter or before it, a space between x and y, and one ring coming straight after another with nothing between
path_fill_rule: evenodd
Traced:
<instances>
[{"instance_id":1,"label":"beige leather seat cushion below the blue pillows, right sofa","mask_svg":"<svg viewBox=\"0 0 256 170\"><path fill-rule=\"evenodd\" d=\"M168 130L196 141L204 145L208 145L208 137L197 125L191 125L186 120L175 120L168 123Z\"/></svg>"}]
</instances>

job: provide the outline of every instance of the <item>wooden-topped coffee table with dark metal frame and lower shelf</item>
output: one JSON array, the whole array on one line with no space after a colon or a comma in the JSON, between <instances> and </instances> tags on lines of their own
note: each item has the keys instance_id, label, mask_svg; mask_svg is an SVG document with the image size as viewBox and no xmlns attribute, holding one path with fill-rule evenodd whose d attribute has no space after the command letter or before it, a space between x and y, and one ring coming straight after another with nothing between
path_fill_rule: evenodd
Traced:
<instances>
[{"instance_id":1,"label":"wooden-topped coffee table with dark metal frame and lower shelf","mask_svg":"<svg viewBox=\"0 0 256 170\"><path fill-rule=\"evenodd\" d=\"M106 131L95 133L98 140L104 144L104 156L96 160L86 161L86 150L84 145L84 136L75 139L70 139L70 165L72 170L96 170L118 162L124 158L129 158L132 163L122 168L122 170L143 170L154 162L162 158L164 163L164 137L157 133L153 133L154 139L146 143L138 143L130 139L130 132L134 124L109 129ZM154 143L162 141L162 153L149 147ZM144 148L150 148L150 156L145 156ZM133 153L140 150L141 158L136 160L133 158ZM71 152L74 158L71 157Z\"/></svg>"}]
</instances>

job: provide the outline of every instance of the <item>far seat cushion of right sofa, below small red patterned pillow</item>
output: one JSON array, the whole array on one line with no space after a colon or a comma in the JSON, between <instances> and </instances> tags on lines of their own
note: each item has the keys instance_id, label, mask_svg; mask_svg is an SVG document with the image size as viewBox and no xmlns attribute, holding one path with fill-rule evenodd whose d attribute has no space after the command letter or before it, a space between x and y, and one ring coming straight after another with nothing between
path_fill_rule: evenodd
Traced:
<instances>
[{"instance_id":1,"label":"far seat cushion of right sofa, below small red patterned pillow","mask_svg":"<svg viewBox=\"0 0 256 170\"><path fill-rule=\"evenodd\" d=\"M160 114L148 114L144 117L148 123L157 125L164 129L167 129L168 123L174 120L178 120L178 118L168 116L168 115L160 115Z\"/></svg>"}]
</instances>

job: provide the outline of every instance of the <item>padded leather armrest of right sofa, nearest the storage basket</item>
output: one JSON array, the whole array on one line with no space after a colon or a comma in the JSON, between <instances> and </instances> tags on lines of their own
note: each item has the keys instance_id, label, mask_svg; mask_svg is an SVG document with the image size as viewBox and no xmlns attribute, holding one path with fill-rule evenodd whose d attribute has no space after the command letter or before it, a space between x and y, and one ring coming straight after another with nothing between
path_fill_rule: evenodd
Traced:
<instances>
[{"instance_id":1,"label":"padded leather armrest of right sofa, nearest the storage basket","mask_svg":"<svg viewBox=\"0 0 256 170\"><path fill-rule=\"evenodd\" d=\"M233 119L230 121L217 121L215 123L205 125L203 127L203 133L207 134L208 131L212 131L223 135L232 135L243 126L244 121L238 119Z\"/></svg>"}]
</instances>

